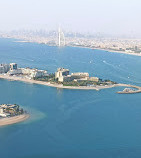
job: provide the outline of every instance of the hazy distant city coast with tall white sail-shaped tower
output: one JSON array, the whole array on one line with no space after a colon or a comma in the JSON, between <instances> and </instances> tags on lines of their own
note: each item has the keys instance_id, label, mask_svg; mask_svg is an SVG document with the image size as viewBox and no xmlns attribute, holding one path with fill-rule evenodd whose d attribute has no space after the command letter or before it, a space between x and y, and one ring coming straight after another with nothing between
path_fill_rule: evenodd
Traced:
<instances>
[{"instance_id":1,"label":"hazy distant city coast with tall white sail-shaped tower","mask_svg":"<svg viewBox=\"0 0 141 158\"><path fill-rule=\"evenodd\" d=\"M114 37L106 34L82 34L63 31L61 28L54 31L21 30L1 32L2 38L19 39L19 42L36 42L49 46L73 46L107 51L141 55L141 38L129 36Z\"/></svg>"}]
</instances>

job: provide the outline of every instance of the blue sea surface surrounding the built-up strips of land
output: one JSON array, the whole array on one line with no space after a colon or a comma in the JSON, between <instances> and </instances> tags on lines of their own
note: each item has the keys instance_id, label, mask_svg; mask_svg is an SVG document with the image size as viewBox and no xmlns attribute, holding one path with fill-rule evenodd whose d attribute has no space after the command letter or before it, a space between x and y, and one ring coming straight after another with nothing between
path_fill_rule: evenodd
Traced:
<instances>
[{"instance_id":1,"label":"blue sea surface surrounding the built-up strips of land","mask_svg":"<svg viewBox=\"0 0 141 158\"><path fill-rule=\"evenodd\" d=\"M0 63L10 62L141 86L138 56L0 39ZM0 158L141 158L141 94L118 90L123 87L67 90L1 79L0 104L19 104L31 118L0 128Z\"/></svg>"}]
</instances>

